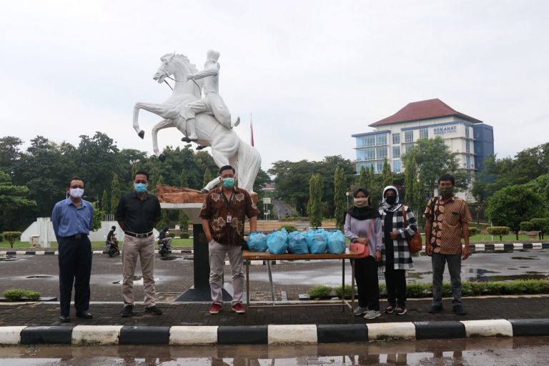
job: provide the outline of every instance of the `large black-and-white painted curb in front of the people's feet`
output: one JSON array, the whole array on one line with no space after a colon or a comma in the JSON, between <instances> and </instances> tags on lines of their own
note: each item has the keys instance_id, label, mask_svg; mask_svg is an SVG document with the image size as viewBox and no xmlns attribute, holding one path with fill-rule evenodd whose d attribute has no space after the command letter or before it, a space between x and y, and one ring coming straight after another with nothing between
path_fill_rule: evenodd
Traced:
<instances>
[{"instance_id":1,"label":"large black-and-white painted curb in front of the people's feet","mask_svg":"<svg viewBox=\"0 0 549 366\"><path fill-rule=\"evenodd\" d=\"M1 345L280 345L549 335L549 319L344 325L0 327Z\"/></svg>"}]
</instances>

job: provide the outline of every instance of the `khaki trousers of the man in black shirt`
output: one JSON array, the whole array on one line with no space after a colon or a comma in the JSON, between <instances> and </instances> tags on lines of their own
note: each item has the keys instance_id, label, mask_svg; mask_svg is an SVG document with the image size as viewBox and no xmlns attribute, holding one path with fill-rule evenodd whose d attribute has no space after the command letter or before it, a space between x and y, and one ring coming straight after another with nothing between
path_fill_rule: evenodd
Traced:
<instances>
[{"instance_id":1,"label":"khaki trousers of the man in black shirt","mask_svg":"<svg viewBox=\"0 0 549 366\"><path fill-rule=\"evenodd\" d=\"M134 273L138 257L143 274L144 304L145 307L152 307L157 300L157 292L154 289L154 235L144 238L124 235L124 247L122 248L124 305L134 305Z\"/></svg>"}]
</instances>

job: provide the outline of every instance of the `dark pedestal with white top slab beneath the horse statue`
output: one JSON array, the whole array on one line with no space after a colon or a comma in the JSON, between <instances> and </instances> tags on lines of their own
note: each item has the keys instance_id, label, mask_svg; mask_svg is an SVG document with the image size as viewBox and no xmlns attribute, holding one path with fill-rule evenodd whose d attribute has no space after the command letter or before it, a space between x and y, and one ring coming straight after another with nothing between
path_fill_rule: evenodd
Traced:
<instances>
[{"instance_id":1,"label":"dark pedestal with white top slab beneath the horse statue","mask_svg":"<svg viewBox=\"0 0 549 366\"><path fill-rule=\"evenodd\" d=\"M182 209L192 221L193 241L192 248L194 251L193 274L194 286L179 295L175 301L197 301L211 302L212 295L209 288L209 250L208 241L202 223L200 222L200 209L202 203L160 203L163 209ZM223 301L232 300L227 290L222 290Z\"/></svg>"}]
</instances>

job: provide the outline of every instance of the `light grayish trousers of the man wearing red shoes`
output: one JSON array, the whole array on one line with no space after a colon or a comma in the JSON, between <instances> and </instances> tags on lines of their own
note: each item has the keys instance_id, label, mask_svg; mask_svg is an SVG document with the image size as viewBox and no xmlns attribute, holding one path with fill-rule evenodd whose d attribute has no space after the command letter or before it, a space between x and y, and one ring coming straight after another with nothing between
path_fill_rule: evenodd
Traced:
<instances>
[{"instance_id":1,"label":"light grayish trousers of the man wearing red shoes","mask_svg":"<svg viewBox=\"0 0 549 366\"><path fill-rule=\"evenodd\" d=\"M212 291L212 302L221 304L223 286L223 266L225 254L229 254L229 264L232 274L232 304L242 302L244 292L244 272L242 272L242 247L209 242L209 287Z\"/></svg>"}]
</instances>

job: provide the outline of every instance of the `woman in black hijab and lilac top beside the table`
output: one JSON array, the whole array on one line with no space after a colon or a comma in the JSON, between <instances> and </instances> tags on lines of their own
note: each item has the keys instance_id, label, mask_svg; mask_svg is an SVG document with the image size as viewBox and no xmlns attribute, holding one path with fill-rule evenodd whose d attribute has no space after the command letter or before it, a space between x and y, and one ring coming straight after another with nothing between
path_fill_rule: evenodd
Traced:
<instances>
[{"instance_id":1,"label":"woman in black hijab and lilac top beside the table","mask_svg":"<svg viewBox=\"0 0 549 366\"><path fill-rule=\"evenodd\" d=\"M353 206L345 214L345 236L351 242L367 244L370 255L355 259L355 280L358 307L355 315L375 319L380 313L380 285L377 281L377 263L381 260L381 215L368 204L368 191L359 187L353 194Z\"/></svg>"}]
</instances>

